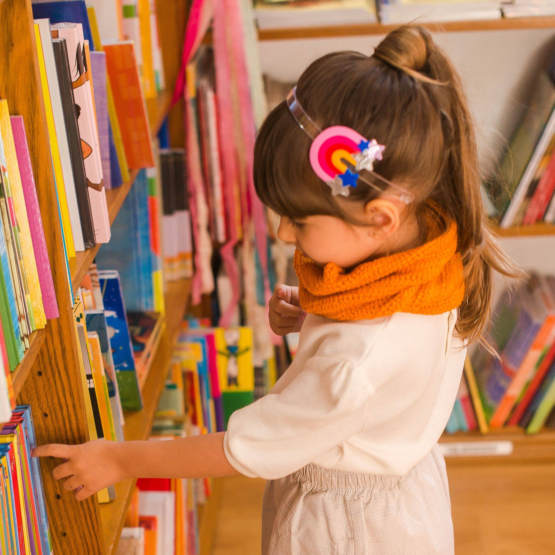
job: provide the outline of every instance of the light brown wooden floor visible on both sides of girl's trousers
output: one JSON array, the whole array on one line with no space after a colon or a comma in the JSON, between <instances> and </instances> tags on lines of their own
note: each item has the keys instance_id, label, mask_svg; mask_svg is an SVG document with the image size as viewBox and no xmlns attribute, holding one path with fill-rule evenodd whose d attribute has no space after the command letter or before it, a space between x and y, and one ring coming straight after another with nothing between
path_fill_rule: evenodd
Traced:
<instances>
[{"instance_id":1,"label":"light brown wooden floor visible on both sides of girl's trousers","mask_svg":"<svg viewBox=\"0 0 555 555\"><path fill-rule=\"evenodd\" d=\"M448 474L457 555L555 554L555 465L472 465ZM260 553L263 491L263 480L222 480L211 555Z\"/></svg>"}]
</instances>

